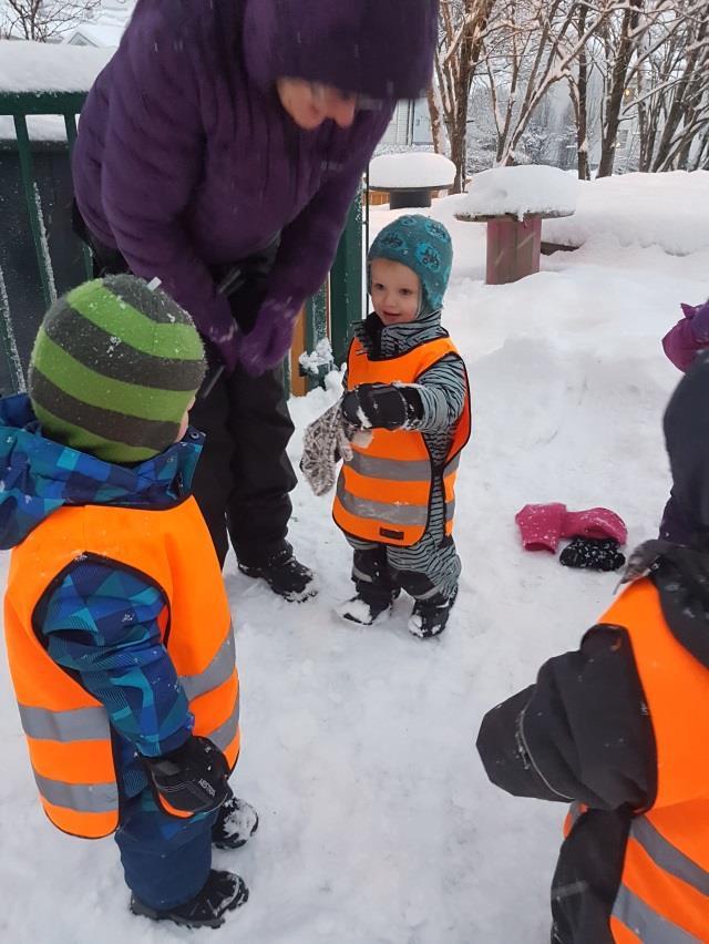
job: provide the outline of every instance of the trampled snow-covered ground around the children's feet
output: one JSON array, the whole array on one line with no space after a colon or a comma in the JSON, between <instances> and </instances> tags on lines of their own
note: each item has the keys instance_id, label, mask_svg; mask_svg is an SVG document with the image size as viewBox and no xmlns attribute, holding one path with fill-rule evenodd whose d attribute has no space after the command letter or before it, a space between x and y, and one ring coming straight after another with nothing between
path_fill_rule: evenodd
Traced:
<instances>
[{"instance_id":1,"label":"trampled snow-covered ground around the children's feet","mask_svg":"<svg viewBox=\"0 0 709 944\"><path fill-rule=\"evenodd\" d=\"M316 601L279 602L227 562L243 683L235 783L261 827L246 849L216 854L251 887L218 938L129 915L114 843L47 823L3 664L3 941L547 944L564 808L496 791L474 739L487 708L577 645L618 575L523 552L514 514L527 502L605 504L627 522L630 544L655 535L668 489L660 419L678 379L660 338L680 301L709 295L709 248L678 257L598 237L544 259L540 275L486 287L484 227L454 219L460 199L432 211L455 242L445 321L467 360L474 410L449 629L409 636L405 599L373 628L337 622L350 555L329 501L306 484L291 537L320 575ZM697 224L702 215L696 204ZM372 218L377 229L390 213ZM304 427L335 396L292 402L294 462Z\"/></svg>"}]
</instances>

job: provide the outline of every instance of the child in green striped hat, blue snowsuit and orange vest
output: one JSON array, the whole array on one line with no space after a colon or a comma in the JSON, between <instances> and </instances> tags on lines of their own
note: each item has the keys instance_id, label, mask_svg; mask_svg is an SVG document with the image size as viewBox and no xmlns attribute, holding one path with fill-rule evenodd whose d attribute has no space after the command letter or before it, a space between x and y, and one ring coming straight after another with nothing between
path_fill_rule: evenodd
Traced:
<instances>
[{"instance_id":1,"label":"child in green striped hat, blue snowsuit and orange vest","mask_svg":"<svg viewBox=\"0 0 709 944\"><path fill-rule=\"evenodd\" d=\"M191 496L204 378L189 316L120 275L50 308L0 400L4 630L32 773L65 833L115 834L131 910L216 927L246 902L212 845L256 829L229 606Z\"/></svg>"}]
</instances>

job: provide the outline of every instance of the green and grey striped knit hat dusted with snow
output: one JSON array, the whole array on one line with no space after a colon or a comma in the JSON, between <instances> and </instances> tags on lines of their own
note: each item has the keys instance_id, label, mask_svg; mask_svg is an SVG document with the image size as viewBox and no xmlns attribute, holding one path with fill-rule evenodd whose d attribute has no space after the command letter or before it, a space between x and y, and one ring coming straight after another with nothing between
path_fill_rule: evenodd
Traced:
<instances>
[{"instance_id":1,"label":"green and grey striped knit hat dusted with snow","mask_svg":"<svg viewBox=\"0 0 709 944\"><path fill-rule=\"evenodd\" d=\"M48 438L129 464L175 442L204 372L189 315L164 291L117 275L52 305L34 341L28 390Z\"/></svg>"}]
</instances>

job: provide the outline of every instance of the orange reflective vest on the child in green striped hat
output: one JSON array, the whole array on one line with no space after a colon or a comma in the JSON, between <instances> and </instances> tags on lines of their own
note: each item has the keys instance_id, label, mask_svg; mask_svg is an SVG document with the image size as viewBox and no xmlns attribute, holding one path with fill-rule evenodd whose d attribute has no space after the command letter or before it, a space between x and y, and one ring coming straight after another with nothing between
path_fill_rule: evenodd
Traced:
<instances>
[{"instance_id":1,"label":"orange reflective vest on the child in green striped hat","mask_svg":"<svg viewBox=\"0 0 709 944\"><path fill-rule=\"evenodd\" d=\"M50 584L91 556L140 571L164 594L163 645L187 695L194 733L212 738L230 768L239 752L239 685L222 573L194 499L165 511L62 507L12 551L8 657L40 798L59 829L97 839L119 824L109 716L49 657L33 625Z\"/></svg>"}]
</instances>

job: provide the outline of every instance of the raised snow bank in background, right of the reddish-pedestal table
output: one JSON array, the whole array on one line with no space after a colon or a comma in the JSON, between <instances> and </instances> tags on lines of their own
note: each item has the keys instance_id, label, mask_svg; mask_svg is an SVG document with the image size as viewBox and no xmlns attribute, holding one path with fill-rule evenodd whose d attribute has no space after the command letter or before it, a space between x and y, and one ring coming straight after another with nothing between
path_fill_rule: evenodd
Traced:
<instances>
[{"instance_id":1,"label":"raised snow bank in background, right of the reddish-pedestal table","mask_svg":"<svg viewBox=\"0 0 709 944\"><path fill-rule=\"evenodd\" d=\"M583 246L612 237L620 246L658 245L686 256L709 247L709 171L624 174L583 183L576 213L547 219L543 238Z\"/></svg>"}]
</instances>

